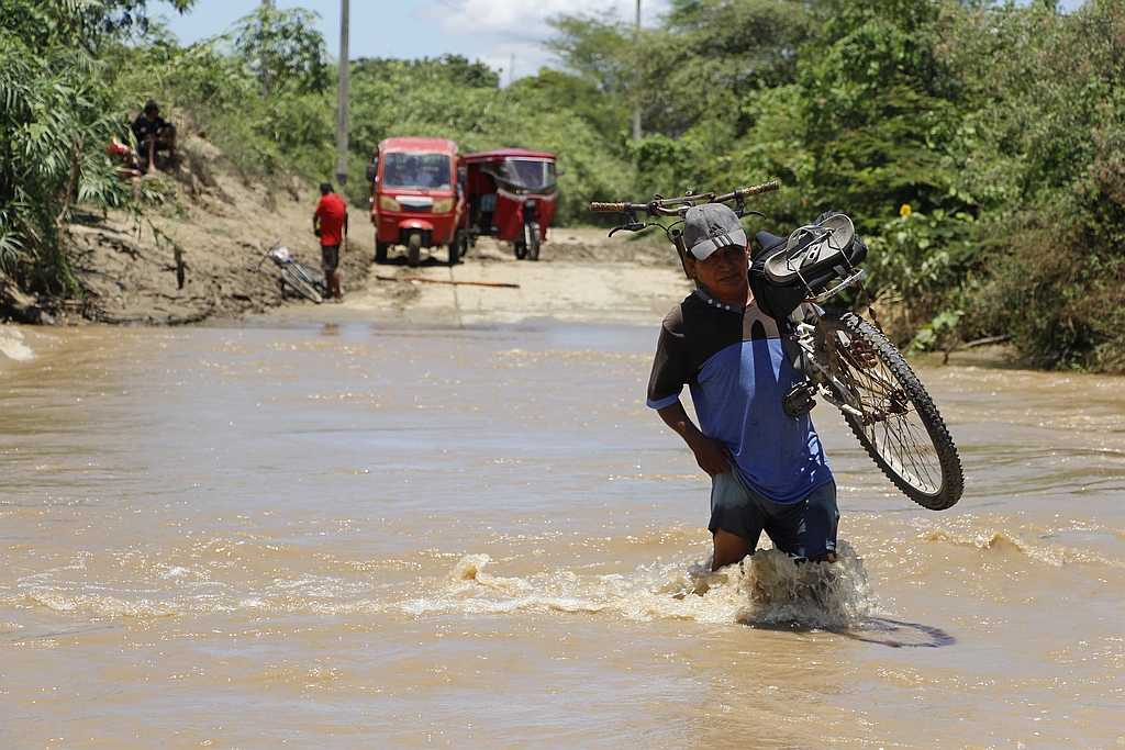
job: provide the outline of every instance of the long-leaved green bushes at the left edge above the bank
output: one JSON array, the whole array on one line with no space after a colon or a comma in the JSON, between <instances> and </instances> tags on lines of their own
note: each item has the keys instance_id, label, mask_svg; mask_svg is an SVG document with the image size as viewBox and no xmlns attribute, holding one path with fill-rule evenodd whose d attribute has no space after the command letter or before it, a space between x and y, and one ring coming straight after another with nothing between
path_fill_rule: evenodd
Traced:
<instances>
[{"instance_id":1,"label":"long-leaved green bushes at the left edge above the bank","mask_svg":"<svg viewBox=\"0 0 1125 750\"><path fill-rule=\"evenodd\" d=\"M100 47L135 25L137 4L0 3L0 270L32 290L76 292L62 247L74 204L132 193L101 159L118 128Z\"/></svg>"}]
</instances>

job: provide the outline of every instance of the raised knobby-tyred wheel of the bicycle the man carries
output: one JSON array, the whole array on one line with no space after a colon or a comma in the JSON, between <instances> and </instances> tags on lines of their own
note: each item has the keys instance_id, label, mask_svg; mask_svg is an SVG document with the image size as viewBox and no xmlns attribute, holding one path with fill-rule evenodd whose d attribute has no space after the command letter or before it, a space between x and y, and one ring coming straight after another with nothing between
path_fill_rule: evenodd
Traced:
<instances>
[{"instance_id":1,"label":"raised knobby-tyred wheel of the bicycle the man carries","mask_svg":"<svg viewBox=\"0 0 1125 750\"><path fill-rule=\"evenodd\" d=\"M878 364L857 359L850 351L856 340L870 347ZM836 383L829 390L844 403L860 403L862 416L840 410L888 479L924 508L953 507L964 490L961 459L934 400L901 352L873 325L845 310L820 318L817 352L848 395L839 394Z\"/></svg>"}]
</instances>

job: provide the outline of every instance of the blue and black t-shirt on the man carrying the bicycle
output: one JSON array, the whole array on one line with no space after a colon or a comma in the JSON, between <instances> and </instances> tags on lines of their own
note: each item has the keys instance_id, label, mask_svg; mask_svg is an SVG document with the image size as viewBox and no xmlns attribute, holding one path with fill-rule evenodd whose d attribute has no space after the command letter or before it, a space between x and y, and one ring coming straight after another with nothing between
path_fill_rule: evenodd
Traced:
<instances>
[{"instance_id":1,"label":"blue and black t-shirt on the man carrying the bicycle","mask_svg":"<svg viewBox=\"0 0 1125 750\"><path fill-rule=\"evenodd\" d=\"M723 305L701 289L664 319L648 405L675 404L686 385L700 430L727 445L742 480L775 503L796 503L832 479L809 415L782 408L803 379L776 320L756 304Z\"/></svg>"}]
</instances>

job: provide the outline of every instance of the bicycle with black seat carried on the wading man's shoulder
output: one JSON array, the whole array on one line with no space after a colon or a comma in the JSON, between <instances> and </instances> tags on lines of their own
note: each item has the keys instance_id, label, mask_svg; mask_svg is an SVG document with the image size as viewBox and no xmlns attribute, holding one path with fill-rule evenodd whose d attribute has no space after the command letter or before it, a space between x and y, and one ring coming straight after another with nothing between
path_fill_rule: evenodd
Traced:
<instances>
[{"instance_id":1,"label":"bicycle with black seat carried on the wading man's shoulder","mask_svg":"<svg viewBox=\"0 0 1125 750\"><path fill-rule=\"evenodd\" d=\"M670 226L642 223L639 214L682 220L692 206L734 201L739 218L752 214L765 218L746 210L745 200L778 187L774 181L723 196L687 193L657 196L642 204L595 202L591 209L628 216L629 223L612 229L610 236L619 231L663 228L686 274L681 222ZM789 320L785 349L796 371L808 378L785 395L785 413L807 414L816 404L813 396L821 396L843 413L867 454L907 497L934 510L956 504L964 488L961 459L918 376L876 325L849 310L825 313L816 307L864 278L857 266L867 249L852 219L830 213L788 237L758 232L754 240L750 289L764 313L778 322ZM812 323L807 322L804 302L814 306Z\"/></svg>"}]
</instances>

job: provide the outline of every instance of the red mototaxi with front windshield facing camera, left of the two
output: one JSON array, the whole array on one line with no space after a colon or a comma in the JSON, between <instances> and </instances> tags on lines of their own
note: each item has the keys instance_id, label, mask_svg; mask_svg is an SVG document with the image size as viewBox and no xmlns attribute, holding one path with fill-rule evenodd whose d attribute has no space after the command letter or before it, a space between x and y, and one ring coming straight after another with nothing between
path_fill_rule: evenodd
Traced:
<instances>
[{"instance_id":1,"label":"red mototaxi with front windshield facing camera, left of the two","mask_svg":"<svg viewBox=\"0 0 1125 750\"><path fill-rule=\"evenodd\" d=\"M416 266L422 247L447 245L449 264L464 254L465 191L458 180L464 160L448 138L385 138L367 168L371 182L375 261L387 262L392 245L406 249Z\"/></svg>"}]
</instances>

